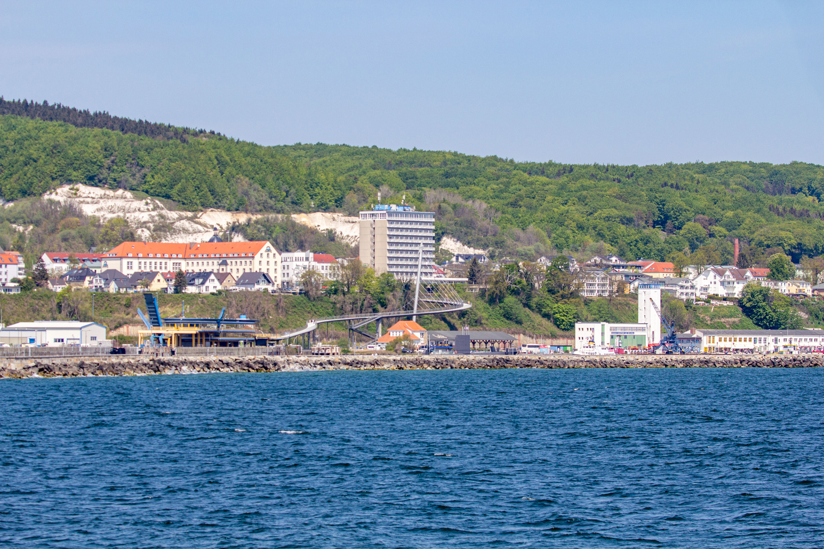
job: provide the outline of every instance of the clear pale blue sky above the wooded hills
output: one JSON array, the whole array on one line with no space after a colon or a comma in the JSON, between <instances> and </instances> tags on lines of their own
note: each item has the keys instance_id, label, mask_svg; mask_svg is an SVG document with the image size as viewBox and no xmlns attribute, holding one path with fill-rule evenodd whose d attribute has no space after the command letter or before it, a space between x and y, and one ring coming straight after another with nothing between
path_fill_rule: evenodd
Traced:
<instances>
[{"instance_id":1,"label":"clear pale blue sky above the wooded hills","mask_svg":"<svg viewBox=\"0 0 824 549\"><path fill-rule=\"evenodd\" d=\"M824 7L0 2L0 94L294 142L824 164Z\"/></svg>"}]
</instances>

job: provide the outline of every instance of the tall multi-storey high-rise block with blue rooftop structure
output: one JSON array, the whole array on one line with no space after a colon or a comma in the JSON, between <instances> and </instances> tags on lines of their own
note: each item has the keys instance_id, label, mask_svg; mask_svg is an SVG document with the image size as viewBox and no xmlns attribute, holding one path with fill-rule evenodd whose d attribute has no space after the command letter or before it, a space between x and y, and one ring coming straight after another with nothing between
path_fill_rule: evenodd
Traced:
<instances>
[{"instance_id":1,"label":"tall multi-storey high-rise block with blue rooftop structure","mask_svg":"<svg viewBox=\"0 0 824 549\"><path fill-rule=\"evenodd\" d=\"M377 204L368 212L360 212L360 260L377 274L416 277L422 244L421 276L432 277L434 212L415 212L413 206L404 204Z\"/></svg>"}]
</instances>

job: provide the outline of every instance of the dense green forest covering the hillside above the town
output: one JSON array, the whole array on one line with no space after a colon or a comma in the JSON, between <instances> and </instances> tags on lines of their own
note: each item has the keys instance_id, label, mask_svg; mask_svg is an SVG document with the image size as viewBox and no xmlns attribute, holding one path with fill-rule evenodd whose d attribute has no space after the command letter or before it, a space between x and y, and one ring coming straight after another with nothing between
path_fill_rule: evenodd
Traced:
<instances>
[{"instance_id":1,"label":"dense green forest covering the hillside above the town","mask_svg":"<svg viewBox=\"0 0 824 549\"><path fill-rule=\"evenodd\" d=\"M438 235L498 257L698 253L702 263L729 263L734 238L744 263L763 263L776 251L796 261L824 253L821 165L569 165L321 143L262 147L45 102L25 105L30 112L3 101L0 111L9 113L0 116L6 200L82 183L143 191L191 211L354 214L380 191L385 200L405 195L438 212Z\"/></svg>"}]
</instances>

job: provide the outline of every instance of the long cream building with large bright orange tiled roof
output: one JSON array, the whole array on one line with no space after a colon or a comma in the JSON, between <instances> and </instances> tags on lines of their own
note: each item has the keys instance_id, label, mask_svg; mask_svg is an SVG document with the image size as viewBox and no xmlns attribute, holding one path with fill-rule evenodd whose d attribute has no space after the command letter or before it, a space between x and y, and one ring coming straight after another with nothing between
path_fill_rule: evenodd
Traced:
<instances>
[{"instance_id":1,"label":"long cream building with large bright orange tiled roof","mask_svg":"<svg viewBox=\"0 0 824 549\"><path fill-rule=\"evenodd\" d=\"M265 240L253 242L124 242L110 249L103 268L134 272L265 272L280 286L280 254Z\"/></svg>"}]
</instances>

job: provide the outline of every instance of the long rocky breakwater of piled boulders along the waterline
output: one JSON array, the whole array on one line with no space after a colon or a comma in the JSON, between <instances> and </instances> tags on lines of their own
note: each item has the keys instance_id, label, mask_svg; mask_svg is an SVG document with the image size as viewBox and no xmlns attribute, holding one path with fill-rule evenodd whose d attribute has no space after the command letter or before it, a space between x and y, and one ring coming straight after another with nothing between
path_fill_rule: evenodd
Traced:
<instances>
[{"instance_id":1,"label":"long rocky breakwater of piled boulders along the waterline","mask_svg":"<svg viewBox=\"0 0 824 549\"><path fill-rule=\"evenodd\" d=\"M0 378L88 375L206 374L318 370L450 370L499 368L799 368L824 366L822 355L630 356L111 356L0 362Z\"/></svg>"}]
</instances>

